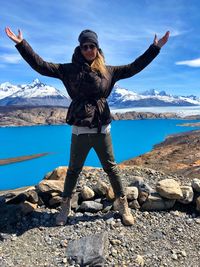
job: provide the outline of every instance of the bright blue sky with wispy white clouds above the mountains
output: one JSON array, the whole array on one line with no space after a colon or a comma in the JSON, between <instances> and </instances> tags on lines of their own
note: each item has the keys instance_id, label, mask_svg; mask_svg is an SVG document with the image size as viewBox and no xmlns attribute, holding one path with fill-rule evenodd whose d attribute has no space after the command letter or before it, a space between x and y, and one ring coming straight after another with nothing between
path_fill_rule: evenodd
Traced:
<instances>
[{"instance_id":1,"label":"bright blue sky with wispy white clouds above the mountains","mask_svg":"<svg viewBox=\"0 0 200 267\"><path fill-rule=\"evenodd\" d=\"M200 1L198 0L0 0L0 83L42 82L65 91L61 81L41 76L18 54L4 33L5 26L23 37L46 61L70 62L78 35L98 33L106 63L132 62L169 30L159 56L121 87L142 92L166 90L176 95L200 96Z\"/></svg>"}]
</instances>

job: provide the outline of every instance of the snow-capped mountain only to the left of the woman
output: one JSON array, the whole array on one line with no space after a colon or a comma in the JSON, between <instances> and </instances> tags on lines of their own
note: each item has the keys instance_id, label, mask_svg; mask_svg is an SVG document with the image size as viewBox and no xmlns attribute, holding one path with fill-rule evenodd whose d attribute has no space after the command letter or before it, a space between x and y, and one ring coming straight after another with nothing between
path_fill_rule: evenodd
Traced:
<instances>
[{"instance_id":1,"label":"snow-capped mountain only to the left of the woman","mask_svg":"<svg viewBox=\"0 0 200 267\"><path fill-rule=\"evenodd\" d=\"M69 106L70 98L35 79L30 84L0 85L0 106Z\"/></svg>"}]
</instances>

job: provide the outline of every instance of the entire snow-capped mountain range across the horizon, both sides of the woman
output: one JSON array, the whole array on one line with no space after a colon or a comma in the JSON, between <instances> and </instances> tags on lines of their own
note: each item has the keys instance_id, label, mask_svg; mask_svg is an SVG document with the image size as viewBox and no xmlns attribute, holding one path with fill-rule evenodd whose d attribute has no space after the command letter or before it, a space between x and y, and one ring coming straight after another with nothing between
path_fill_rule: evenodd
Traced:
<instances>
[{"instance_id":1,"label":"entire snow-capped mountain range across the horizon, both sides of the woman","mask_svg":"<svg viewBox=\"0 0 200 267\"><path fill-rule=\"evenodd\" d=\"M0 84L0 106L65 106L71 102L53 86L35 79L30 84ZM165 91L151 89L141 94L115 85L108 103L112 108L155 107L155 106L193 106L200 105L200 98L194 95L173 96Z\"/></svg>"}]
</instances>

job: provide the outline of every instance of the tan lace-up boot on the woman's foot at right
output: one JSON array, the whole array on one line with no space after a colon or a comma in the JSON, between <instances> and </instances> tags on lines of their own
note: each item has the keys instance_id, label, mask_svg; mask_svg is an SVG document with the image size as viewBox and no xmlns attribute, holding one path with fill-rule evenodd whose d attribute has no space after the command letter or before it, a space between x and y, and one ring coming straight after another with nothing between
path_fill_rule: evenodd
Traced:
<instances>
[{"instance_id":1,"label":"tan lace-up boot on the woman's foot at right","mask_svg":"<svg viewBox=\"0 0 200 267\"><path fill-rule=\"evenodd\" d=\"M119 197L114 202L114 210L118 210L122 216L122 222L124 225L133 225L134 218L131 214L131 210L128 207L126 196Z\"/></svg>"}]
</instances>

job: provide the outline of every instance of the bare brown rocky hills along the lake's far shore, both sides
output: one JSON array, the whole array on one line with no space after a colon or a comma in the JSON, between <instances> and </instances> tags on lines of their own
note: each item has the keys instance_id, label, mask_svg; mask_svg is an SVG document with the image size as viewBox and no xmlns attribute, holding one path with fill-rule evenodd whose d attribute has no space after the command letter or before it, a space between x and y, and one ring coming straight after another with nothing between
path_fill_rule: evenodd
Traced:
<instances>
[{"instance_id":1,"label":"bare brown rocky hills along the lake's far shore, both sides","mask_svg":"<svg viewBox=\"0 0 200 267\"><path fill-rule=\"evenodd\" d=\"M62 107L0 107L0 126L31 126L64 124L67 108ZM175 113L125 112L112 114L113 120L171 119Z\"/></svg>"}]
</instances>

